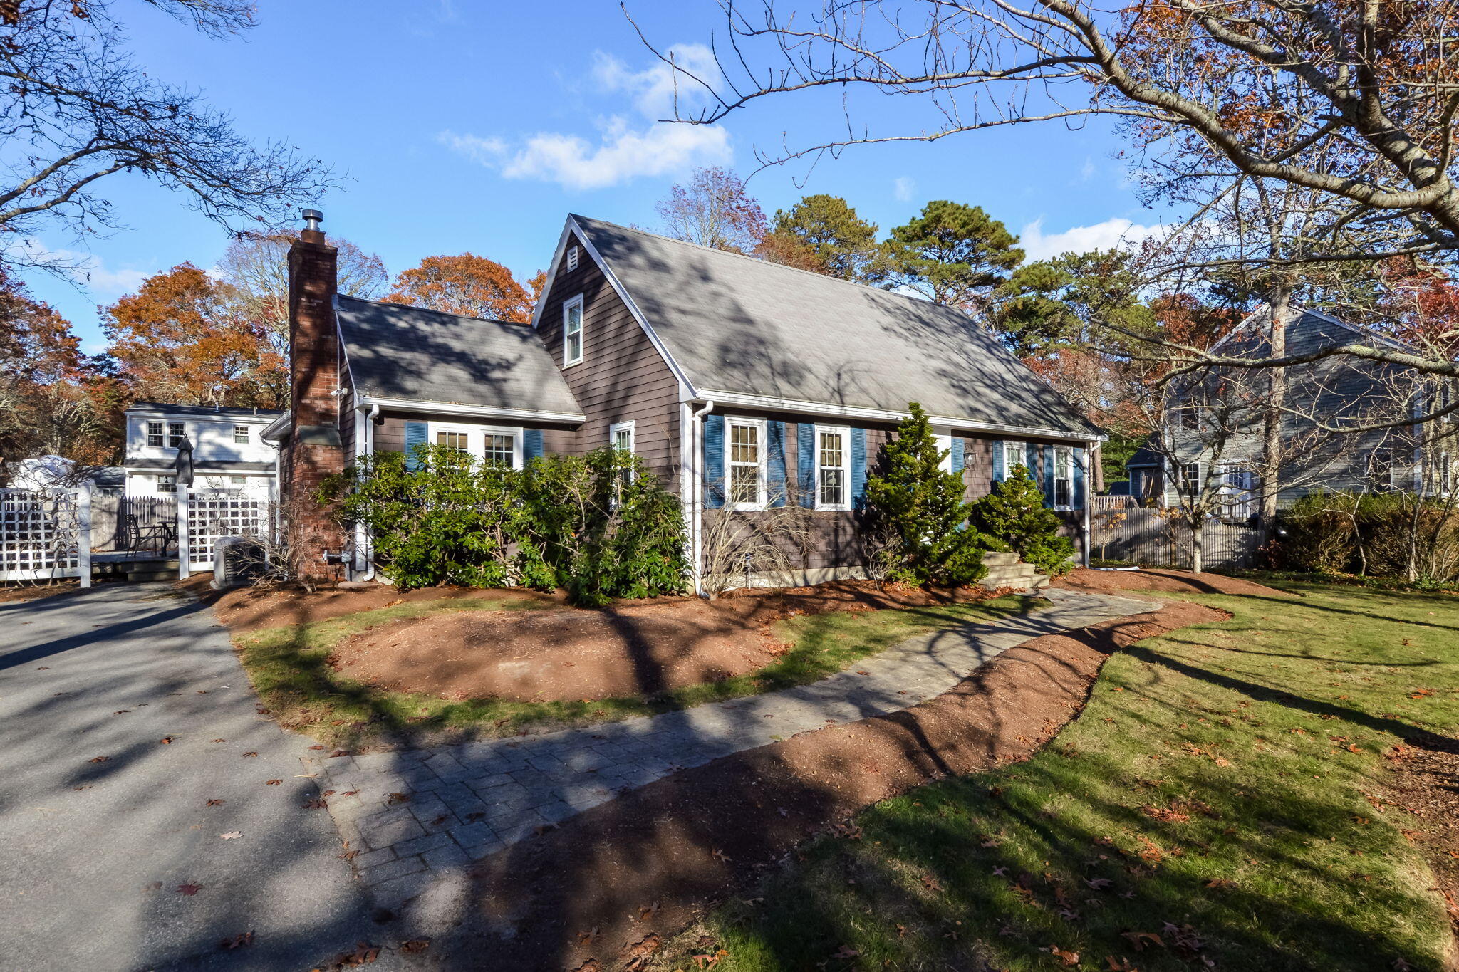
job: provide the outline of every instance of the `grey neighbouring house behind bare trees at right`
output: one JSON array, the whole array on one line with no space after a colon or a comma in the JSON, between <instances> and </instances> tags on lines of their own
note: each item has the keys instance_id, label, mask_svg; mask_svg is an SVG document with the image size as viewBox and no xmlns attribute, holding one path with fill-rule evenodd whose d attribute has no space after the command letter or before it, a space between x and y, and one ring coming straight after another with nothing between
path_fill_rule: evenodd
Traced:
<instances>
[{"instance_id":1,"label":"grey neighbouring house behind bare trees at right","mask_svg":"<svg viewBox=\"0 0 1459 972\"><path fill-rule=\"evenodd\" d=\"M1215 345L1224 354L1268 353L1268 309L1243 321ZM1342 344L1367 344L1420 354L1402 341L1310 309L1297 310L1285 328L1287 354L1310 354ZM1129 493L1174 504L1189 484L1205 481L1211 468L1223 484L1224 519L1246 519L1256 510L1261 481L1262 414L1269 398L1265 372L1205 375L1177 392L1170 427L1129 462ZM1455 415L1433 423L1405 420L1459 401L1453 380L1423 376L1380 361L1332 356L1288 369L1287 414L1282 420L1282 484L1278 503L1290 504L1313 490L1412 490L1449 494L1456 488ZM1380 426L1360 433L1344 426Z\"/></svg>"}]
</instances>

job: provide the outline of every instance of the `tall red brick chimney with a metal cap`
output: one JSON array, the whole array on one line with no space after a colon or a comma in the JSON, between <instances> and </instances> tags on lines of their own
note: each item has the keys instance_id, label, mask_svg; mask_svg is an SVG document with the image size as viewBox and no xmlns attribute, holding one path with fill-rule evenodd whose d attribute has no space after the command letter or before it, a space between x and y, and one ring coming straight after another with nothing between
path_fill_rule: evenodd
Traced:
<instances>
[{"instance_id":1,"label":"tall red brick chimney with a metal cap","mask_svg":"<svg viewBox=\"0 0 1459 972\"><path fill-rule=\"evenodd\" d=\"M283 462L283 495L303 544L303 570L328 579L337 568L324 560L344 548L344 532L328 507L314 498L325 477L344 469L340 443L340 342L334 324L338 283L337 251L324 242L322 214L305 210L305 229L289 248L289 444Z\"/></svg>"}]
</instances>

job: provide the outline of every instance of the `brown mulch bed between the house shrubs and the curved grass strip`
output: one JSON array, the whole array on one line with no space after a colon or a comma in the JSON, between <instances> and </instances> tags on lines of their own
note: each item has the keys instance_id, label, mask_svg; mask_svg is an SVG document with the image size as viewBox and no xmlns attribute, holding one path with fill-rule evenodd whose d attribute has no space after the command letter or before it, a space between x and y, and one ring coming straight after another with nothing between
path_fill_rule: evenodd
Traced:
<instances>
[{"instance_id":1,"label":"brown mulch bed between the house shrubs and the curved grass strip","mask_svg":"<svg viewBox=\"0 0 1459 972\"><path fill-rule=\"evenodd\" d=\"M654 697L770 665L791 646L772 621L986 600L983 590L928 592L865 581L747 590L718 600L626 600L603 611L407 618L349 637L330 663L350 679L449 699L516 702Z\"/></svg>"}]
</instances>

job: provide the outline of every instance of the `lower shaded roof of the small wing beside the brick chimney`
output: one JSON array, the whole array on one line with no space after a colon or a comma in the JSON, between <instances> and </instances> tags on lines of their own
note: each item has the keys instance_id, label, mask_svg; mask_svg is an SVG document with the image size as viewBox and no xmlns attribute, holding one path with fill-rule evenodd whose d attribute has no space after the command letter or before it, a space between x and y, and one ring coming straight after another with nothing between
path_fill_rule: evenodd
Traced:
<instances>
[{"instance_id":1,"label":"lower shaded roof of the small wing beside the brick chimney","mask_svg":"<svg viewBox=\"0 0 1459 972\"><path fill-rule=\"evenodd\" d=\"M357 395L582 418L527 325L344 296L337 318Z\"/></svg>"}]
</instances>

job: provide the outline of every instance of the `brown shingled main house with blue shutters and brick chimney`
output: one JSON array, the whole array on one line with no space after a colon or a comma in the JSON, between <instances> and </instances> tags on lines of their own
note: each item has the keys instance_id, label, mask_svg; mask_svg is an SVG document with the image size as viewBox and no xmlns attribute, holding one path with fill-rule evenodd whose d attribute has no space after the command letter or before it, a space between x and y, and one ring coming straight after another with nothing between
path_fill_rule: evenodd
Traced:
<instances>
[{"instance_id":1,"label":"brown shingled main house with blue shutters and brick chimney","mask_svg":"<svg viewBox=\"0 0 1459 972\"><path fill-rule=\"evenodd\" d=\"M514 466L611 444L684 500L696 564L706 509L810 509L814 583L861 573L868 465L916 401L969 497L1027 465L1085 546L1102 433L957 310L581 216L530 325L334 296L322 233L290 265L295 409L273 434L308 443L303 485L417 443Z\"/></svg>"}]
</instances>

